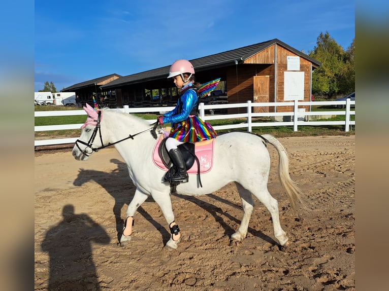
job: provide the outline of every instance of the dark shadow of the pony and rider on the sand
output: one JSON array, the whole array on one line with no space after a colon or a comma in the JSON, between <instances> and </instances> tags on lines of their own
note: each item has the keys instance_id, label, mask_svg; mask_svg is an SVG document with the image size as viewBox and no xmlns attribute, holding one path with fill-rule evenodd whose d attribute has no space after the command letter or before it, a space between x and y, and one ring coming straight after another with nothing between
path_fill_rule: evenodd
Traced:
<instances>
[{"instance_id":1,"label":"dark shadow of the pony and rider on the sand","mask_svg":"<svg viewBox=\"0 0 389 291\"><path fill-rule=\"evenodd\" d=\"M128 176L127 165L124 162L119 161L117 159L111 159L111 163L117 164L117 168L112 170L111 172L80 169L77 178L73 182L73 185L80 187L84 183L93 180L95 181L95 183L98 183L101 187L103 187L114 198L115 204L113 206L113 213L116 221L117 239L118 241L120 241L120 237L124 226L124 217L123 218L121 217L121 209L124 205L128 206L129 202L131 202L131 199L134 197L136 187L132 183L131 178L129 178ZM113 181L116 181L116 183L113 183ZM120 185L120 187L118 187L118 185ZM223 221L222 217L220 216L221 210L219 207L212 205L208 202L205 202L203 200L200 200L194 196L184 196L184 195L177 195L177 194L175 194L175 196L191 201L192 203L208 211L215 218L215 220L221 225L226 235L231 236L235 232L235 230L233 230L230 226L228 226ZM222 199L213 194L209 194L208 196L222 203L228 204L229 206L236 207L242 210L241 206L236 205L231 201ZM146 201L154 201L154 200L152 199L152 197L149 197L147 198ZM163 238L163 242L164 244L166 244L167 241L170 239L170 233L167 231L166 227L156 222L152 218L152 216L148 214L144 208L142 208L142 206L139 206L137 211L148 222L150 222L155 227L155 229L157 229L160 232ZM225 217L227 217L229 220L235 221L236 223L240 224L240 220L238 220L236 217L233 217L228 213L222 213L222 214ZM243 214L243 210L242 210L242 214ZM262 239L266 240L271 244L276 244L276 242L272 238L265 235L261 231L249 228L248 232L250 232L254 236L261 237Z\"/></svg>"}]
</instances>

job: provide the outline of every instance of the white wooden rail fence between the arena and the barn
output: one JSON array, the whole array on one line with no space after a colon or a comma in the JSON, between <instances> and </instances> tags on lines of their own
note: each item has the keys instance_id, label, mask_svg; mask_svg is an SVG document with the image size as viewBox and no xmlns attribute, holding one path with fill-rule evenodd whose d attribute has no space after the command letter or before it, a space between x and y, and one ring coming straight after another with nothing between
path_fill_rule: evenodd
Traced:
<instances>
[{"instance_id":1,"label":"white wooden rail fence between the arena and the barn","mask_svg":"<svg viewBox=\"0 0 389 291\"><path fill-rule=\"evenodd\" d=\"M264 126L293 126L294 131L298 131L298 127L302 125L344 125L345 131L352 130L352 126L355 125L355 121L351 121L351 115L355 115L355 111L351 111L350 105L354 105L355 101L314 101L314 102L300 102L300 101L290 101L290 102L268 102L268 103L253 103L247 101L246 103L236 103L236 104L219 104L219 105L205 105L200 103L200 118L204 121L206 120L217 120L217 119L236 119L236 118L245 118L246 122L239 124L231 125L219 125L214 126L215 130L220 129L233 129L233 128L246 128L247 131L251 132L253 127L264 127ZM299 111L299 106L304 105L345 105L345 111L315 111L315 112L301 112ZM293 112L275 112L275 113L252 113L252 107L279 107L279 106L293 106ZM125 105L123 108L117 108L116 110L124 113L160 113L173 110L174 107L143 107L143 108L129 108ZM205 115L205 111L213 112L215 109L227 109L227 108L242 108L242 111L245 113L239 114L223 114L223 115ZM277 110L276 110L277 111ZM71 110L71 111L38 111L35 112L35 117L42 116L70 116L70 115L86 115L84 110ZM344 115L345 119L341 121L309 121L309 116L328 116L328 115ZM273 121L273 122L252 122L252 118L255 117L284 117L290 116L291 121ZM306 117L306 118L304 118ZM317 119L317 118L316 118ZM308 120L308 121L306 121ZM155 120L148 120L150 124L154 123ZM67 125L46 125L46 126L35 126L35 131L48 131L48 130L66 130L66 129L79 129L81 124L67 124ZM39 145L53 145L53 144L65 144L65 143L74 143L77 140L76 137L73 138L59 138L59 139L44 139L44 140L35 140L35 146Z\"/></svg>"}]
</instances>

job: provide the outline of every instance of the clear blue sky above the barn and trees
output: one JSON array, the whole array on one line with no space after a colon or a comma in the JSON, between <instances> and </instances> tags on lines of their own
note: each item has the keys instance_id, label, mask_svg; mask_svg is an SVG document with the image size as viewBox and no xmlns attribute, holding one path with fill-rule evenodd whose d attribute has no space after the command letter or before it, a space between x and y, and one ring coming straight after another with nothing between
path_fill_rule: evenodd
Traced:
<instances>
[{"instance_id":1,"label":"clear blue sky above the barn and trees","mask_svg":"<svg viewBox=\"0 0 389 291\"><path fill-rule=\"evenodd\" d=\"M61 90L275 38L308 53L326 31L347 49L354 14L350 0L36 0L35 91L45 81Z\"/></svg>"}]
</instances>

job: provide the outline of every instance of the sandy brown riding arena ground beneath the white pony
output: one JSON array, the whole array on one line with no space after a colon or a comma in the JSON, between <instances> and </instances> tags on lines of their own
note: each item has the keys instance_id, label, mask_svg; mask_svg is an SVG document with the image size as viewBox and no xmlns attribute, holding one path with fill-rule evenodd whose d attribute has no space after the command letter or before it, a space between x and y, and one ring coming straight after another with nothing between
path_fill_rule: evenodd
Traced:
<instances>
[{"instance_id":1,"label":"sandy brown riding arena ground beneath the white pony","mask_svg":"<svg viewBox=\"0 0 389 291\"><path fill-rule=\"evenodd\" d=\"M170 232L151 198L134 216L132 242L119 247L135 189L115 149L86 162L70 149L37 152L35 290L354 290L355 136L279 140L312 209L290 209L269 145L269 191L289 237L285 250L257 200L247 238L230 242L243 213L234 184L197 198L172 196L182 234L176 251L163 247Z\"/></svg>"}]
</instances>

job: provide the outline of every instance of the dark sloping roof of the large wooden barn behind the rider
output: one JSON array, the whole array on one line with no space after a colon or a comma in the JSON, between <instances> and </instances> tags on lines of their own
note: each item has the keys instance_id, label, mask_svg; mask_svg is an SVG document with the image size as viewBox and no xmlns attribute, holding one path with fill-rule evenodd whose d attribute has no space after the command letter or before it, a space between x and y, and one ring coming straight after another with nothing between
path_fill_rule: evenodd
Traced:
<instances>
[{"instance_id":1,"label":"dark sloping roof of the large wooden barn behind the rider","mask_svg":"<svg viewBox=\"0 0 389 291\"><path fill-rule=\"evenodd\" d=\"M230 51L225 51L213 55L209 55L206 57L202 58L197 58L193 60L189 60L193 67L195 68L196 71L202 71L206 69L211 69L211 68L218 68L218 67L223 67L223 66L230 66L232 64L235 64L236 62L241 63L244 60L250 58L251 56L257 54L258 52L261 52L265 50L266 48L278 44L291 52L294 52L296 55L305 58L312 62L316 66L320 66L321 63L318 62L317 60L311 58L310 56L294 49L293 47L288 46L287 44L281 42L278 39L270 40L267 42L263 43L258 43L242 48L238 48L235 50L230 50ZM163 79L166 78L169 74L169 68L170 65L152 69L152 70L147 70L144 72L139 72L137 74L133 75L128 75L121 77L119 79L116 79L108 84L105 84L101 86L101 88L113 88L123 85L129 85L129 84L136 84L140 82L146 82L146 81L153 81L153 80L158 80L158 79Z\"/></svg>"}]
</instances>

